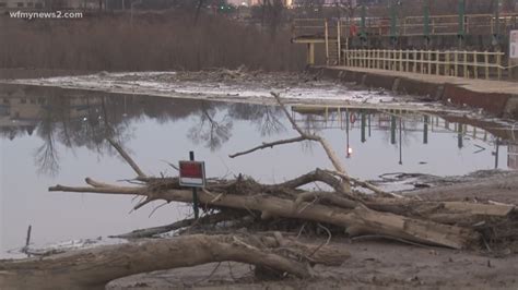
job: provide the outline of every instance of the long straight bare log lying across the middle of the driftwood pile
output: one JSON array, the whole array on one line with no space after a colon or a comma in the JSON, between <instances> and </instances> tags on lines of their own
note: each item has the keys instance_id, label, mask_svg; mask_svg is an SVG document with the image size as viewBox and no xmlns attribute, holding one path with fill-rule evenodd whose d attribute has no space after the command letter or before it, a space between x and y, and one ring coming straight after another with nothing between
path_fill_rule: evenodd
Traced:
<instances>
[{"instance_id":1,"label":"long straight bare log lying across the middle of the driftwood pile","mask_svg":"<svg viewBox=\"0 0 518 290\"><path fill-rule=\"evenodd\" d=\"M109 193L109 188L70 188L57 185L49 190ZM145 189L136 188L132 193L126 191L125 194L140 194L145 196L152 194L151 198L153 200L192 203L192 193L186 190L168 190L146 193ZM367 208L363 204L358 204L351 209L345 209L338 206L294 202L269 194L256 194L250 196L224 193L210 194L208 192L200 192L198 198L199 203L204 205L257 210L266 216L328 222L345 228L351 234L385 234L414 242L443 245L452 249L464 249L479 240L479 234L471 229L442 225L425 219L409 218L390 213L376 212Z\"/></svg>"}]
</instances>

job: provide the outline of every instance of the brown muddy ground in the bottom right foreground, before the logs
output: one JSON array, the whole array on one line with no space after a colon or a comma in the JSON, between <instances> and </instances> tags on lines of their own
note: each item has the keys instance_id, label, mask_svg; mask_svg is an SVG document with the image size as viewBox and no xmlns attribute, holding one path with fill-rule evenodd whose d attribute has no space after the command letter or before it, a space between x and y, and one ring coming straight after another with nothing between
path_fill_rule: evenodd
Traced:
<instances>
[{"instance_id":1,"label":"brown muddy ground in the bottom right foreground, before the logs","mask_svg":"<svg viewBox=\"0 0 518 290\"><path fill-rule=\"evenodd\" d=\"M321 278L257 281L248 265L216 263L138 275L107 289L518 289L518 255L494 256L390 241L337 239L352 257L341 267L315 269ZM231 266L228 266L231 265Z\"/></svg>"}]
</instances>

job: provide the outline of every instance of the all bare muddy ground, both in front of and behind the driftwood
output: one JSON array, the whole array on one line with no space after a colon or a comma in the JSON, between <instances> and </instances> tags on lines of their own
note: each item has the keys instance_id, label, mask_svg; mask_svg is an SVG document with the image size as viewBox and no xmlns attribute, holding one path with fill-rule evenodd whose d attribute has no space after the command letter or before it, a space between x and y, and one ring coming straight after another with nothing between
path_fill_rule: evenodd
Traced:
<instances>
[{"instance_id":1,"label":"all bare muddy ground, both in front of and behind the driftwood","mask_svg":"<svg viewBox=\"0 0 518 290\"><path fill-rule=\"evenodd\" d=\"M517 172L479 172L416 193L425 200L518 204ZM331 243L348 249L352 257L340 267L317 266L316 279L258 281L248 265L222 263L216 268L213 263L127 277L107 289L518 289L516 247L456 251L374 238L333 238Z\"/></svg>"}]
</instances>

